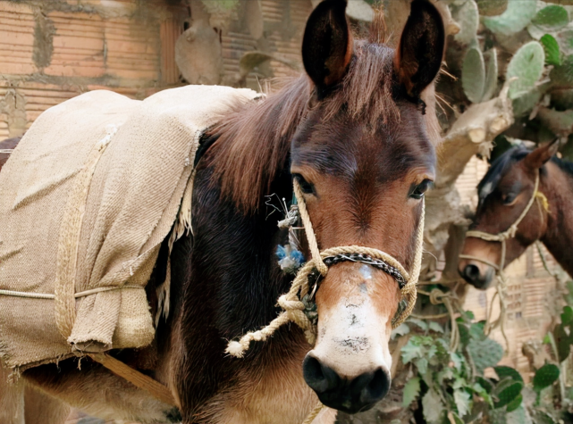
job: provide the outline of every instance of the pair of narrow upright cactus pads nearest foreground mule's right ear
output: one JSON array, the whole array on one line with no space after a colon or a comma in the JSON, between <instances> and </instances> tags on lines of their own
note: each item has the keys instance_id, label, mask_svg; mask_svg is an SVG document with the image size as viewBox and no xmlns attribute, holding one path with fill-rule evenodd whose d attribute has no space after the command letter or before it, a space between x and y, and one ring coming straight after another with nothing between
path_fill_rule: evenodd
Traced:
<instances>
[{"instance_id":1,"label":"pair of narrow upright cactus pads nearest foreground mule's right ear","mask_svg":"<svg viewBox=\"0 0 573 424\"><path fill-rule=\"evenodd\" d=\"M492 98L497 87L497 53L488 51L487 74L484 55L478 47L471 47L461 69L461 85L472 103L481 103Z\"/></svg>"}]
</instances>

